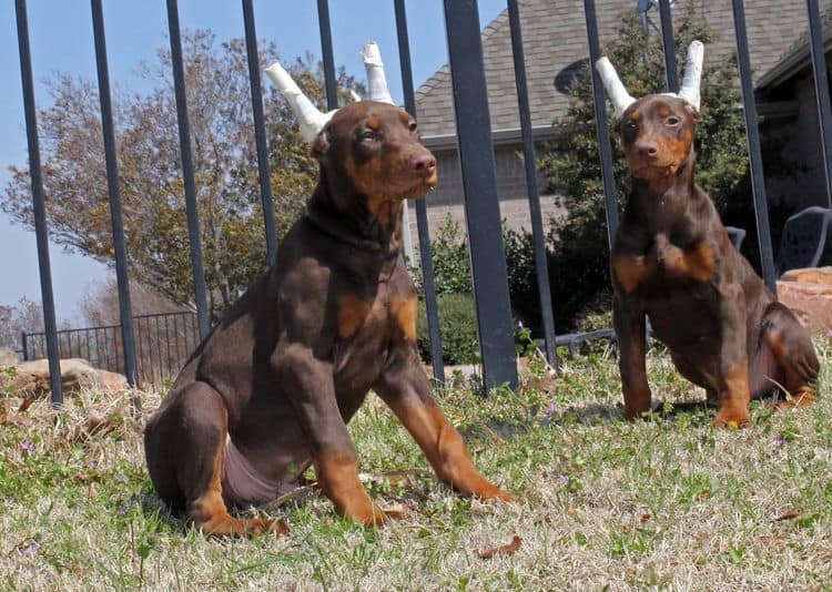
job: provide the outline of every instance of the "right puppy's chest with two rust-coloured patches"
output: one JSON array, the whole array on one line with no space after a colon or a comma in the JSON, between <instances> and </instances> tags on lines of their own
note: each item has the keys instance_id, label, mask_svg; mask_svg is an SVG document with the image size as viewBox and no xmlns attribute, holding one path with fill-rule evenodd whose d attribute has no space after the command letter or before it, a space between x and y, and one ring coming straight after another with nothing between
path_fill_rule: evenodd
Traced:
<instances>
[{"instance_id":1,"label":"right puppy's chest with two rust-coloured patches","mask_svg":"<svg viewBox=\"0 0 832 592\"><path fill-rule=\"evenodd\" d=\"M718 267L718 252L709 241L679 244L663 233L641 248L618 249L612 258L612 273L628 294L663 292L681 284L710 284Z\"/></svg>"}]
</instances>

